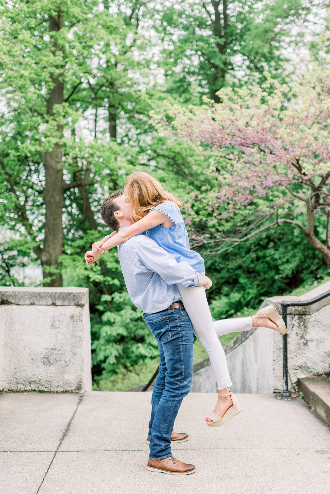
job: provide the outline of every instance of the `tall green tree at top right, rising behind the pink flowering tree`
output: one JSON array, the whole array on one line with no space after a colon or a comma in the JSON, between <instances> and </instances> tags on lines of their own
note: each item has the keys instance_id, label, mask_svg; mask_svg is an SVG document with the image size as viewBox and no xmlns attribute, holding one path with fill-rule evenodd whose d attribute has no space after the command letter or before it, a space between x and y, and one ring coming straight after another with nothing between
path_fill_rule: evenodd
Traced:
<instances>
[{"instance_id":1,"label":"tall green tree at top right, rising behind the pink flowering tree","mask_svg":"<svg viewBox=\"0 0 330 494\"><path fill-rule=\"evenodd\" d=\"M317 19L318 7L319 0L185 0L179 4L171 0L169 7L160 6L168 91L187 100L198 87L219 103L217 91L226 85L262 83L265 70L281 77L284 49L301 41L296 30L309 22L311 12Z\"/></svg>"}]
</instances>

